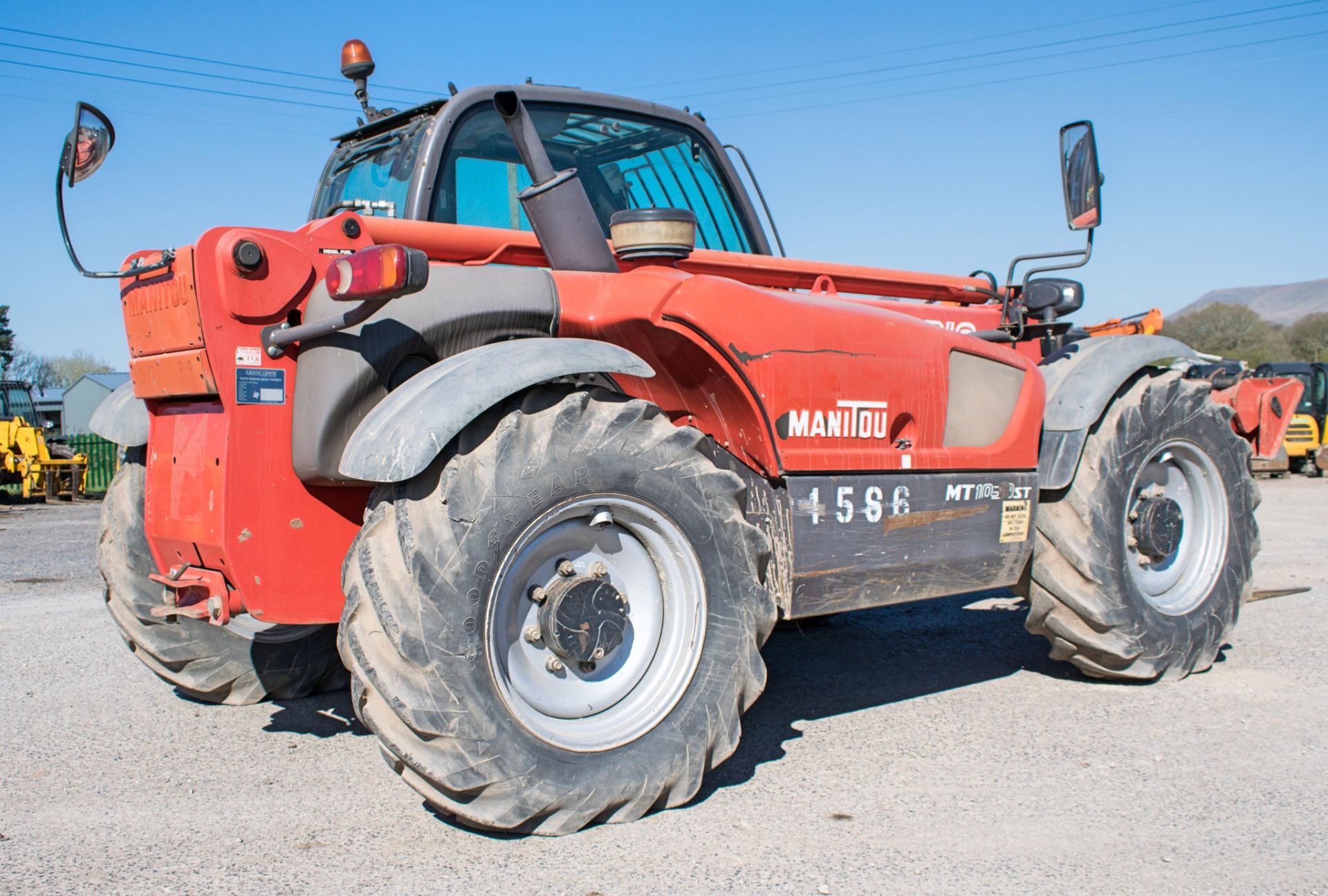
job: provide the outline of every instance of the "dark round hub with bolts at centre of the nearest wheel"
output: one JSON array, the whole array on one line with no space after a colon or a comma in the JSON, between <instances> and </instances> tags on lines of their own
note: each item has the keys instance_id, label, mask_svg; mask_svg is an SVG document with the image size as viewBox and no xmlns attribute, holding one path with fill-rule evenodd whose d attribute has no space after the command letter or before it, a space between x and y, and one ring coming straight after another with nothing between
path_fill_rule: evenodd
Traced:
<instances>
[{"instance_id":1,"label":"dark round hub with bolts at centre of the nearest wheel","mask_svg":"<svg viewBox=\"0 0 1328 896\"><path fill-rule=\"evenodd\" d=\"M598 662L623 642L627 595L595 576L559 579L539 608L544 645L570 662Z\"/></svg>"}]
</instances>

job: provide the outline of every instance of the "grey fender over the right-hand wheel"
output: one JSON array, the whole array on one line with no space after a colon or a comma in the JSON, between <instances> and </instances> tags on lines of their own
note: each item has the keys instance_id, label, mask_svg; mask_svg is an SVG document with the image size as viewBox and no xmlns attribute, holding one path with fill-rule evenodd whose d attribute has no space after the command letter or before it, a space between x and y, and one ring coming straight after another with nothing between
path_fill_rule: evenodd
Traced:
<instances>
[{"instance_id":1,"label":"grey fender over the right-hand wheel","mask_svg":"<svg viewBox=\"0 0 1328 896\"><path fill-rule=\"evenodd\" d=\"M1143 368L1197 360L1194 349L1166 336L1101 336L1070 342L1042 361L1038 369L1046 380L1046 410L1038 487L1070 485L1089 427L1126 380Z\"/></svg>"}]
</instances>

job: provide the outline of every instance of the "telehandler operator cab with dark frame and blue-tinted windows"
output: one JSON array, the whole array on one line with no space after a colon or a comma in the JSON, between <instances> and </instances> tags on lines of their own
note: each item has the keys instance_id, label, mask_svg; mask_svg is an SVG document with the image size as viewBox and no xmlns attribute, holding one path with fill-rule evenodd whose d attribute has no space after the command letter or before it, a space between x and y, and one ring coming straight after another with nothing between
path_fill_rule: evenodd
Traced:
<instances>
[{"instance_id":1,"label":"telehandler operator cab with dark frame and blue-tinted windows","mask_svg":"<svg viewBox=\"0 0 1328 896\"><path fill-rule=\"evenodd\" d=\"M614 212L685 208L699 248L770 254L737 171L699 115L538 84L470 88L392 114L365 97L369 121L335 138L309 220L351 210L533 230L518 199L530 173L493 104L501 90L521 98L554 167L576 170L606 239Z\"/></svg>"}]
</instances>

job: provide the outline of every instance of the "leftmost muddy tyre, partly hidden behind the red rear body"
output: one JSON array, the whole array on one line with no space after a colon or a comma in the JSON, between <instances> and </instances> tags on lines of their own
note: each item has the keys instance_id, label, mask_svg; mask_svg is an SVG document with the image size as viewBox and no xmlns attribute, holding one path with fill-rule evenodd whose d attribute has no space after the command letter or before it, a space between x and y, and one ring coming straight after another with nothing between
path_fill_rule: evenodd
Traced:
<instances>
[{"instance_id":1,"label":"leftmost muddy tyre, partly hidden behind the red rear body","mask_svg":"<svg viewBox=\"0 0 1328 896\"><path fill-rule=\"evenodd\" d=\"M158 619L162 587L143 535L145 449L125 451L101 510L97 561L106 608L129 649L183 693L212 704L256 704L344 688L333 625L272 625L247 615L228 625Z\"/></svg>"}]
</instances>

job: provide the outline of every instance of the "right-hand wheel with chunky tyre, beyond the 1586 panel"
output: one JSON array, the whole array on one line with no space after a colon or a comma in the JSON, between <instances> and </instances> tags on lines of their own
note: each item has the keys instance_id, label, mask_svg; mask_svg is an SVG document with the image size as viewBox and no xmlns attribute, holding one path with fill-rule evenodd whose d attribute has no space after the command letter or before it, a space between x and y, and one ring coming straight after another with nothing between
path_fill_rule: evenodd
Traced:
<instances>
[{"instance_id":1,"label":"right-hand wheel with chunky tyre, beyond the 1586 panel","mask_svg":"<svg viewBox=\"0 0 1328 896\"><path fill-rule=\"evenodd\" d=\"M1208 385L1146 373L1108 406L1064 492L1037 508L1027 628L1097 678L1212 665L1259 550L1250 445Z\"/></svg>"}]
</instances>

